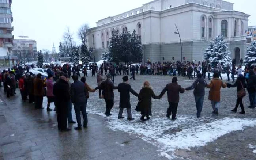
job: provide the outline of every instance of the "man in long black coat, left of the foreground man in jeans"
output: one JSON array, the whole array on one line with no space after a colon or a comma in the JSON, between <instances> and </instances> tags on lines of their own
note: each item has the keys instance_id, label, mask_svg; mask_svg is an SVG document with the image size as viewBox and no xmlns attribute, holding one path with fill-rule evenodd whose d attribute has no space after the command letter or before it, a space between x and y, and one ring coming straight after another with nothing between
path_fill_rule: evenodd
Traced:
<instances>
[{"instance_id":1,"label":"man in long black coat, left of the foreground man in jeans","mask_svg":"<svg viewBox=\"0 0 256 160\"><path fill-rule=\"evenodd\" d=\"M70 100L69 85L67 82L68 75L64 74L53 85L53 94L55 96L55 105L57 108L58 129L69 131L67 128L68 102Z\"/></svg>"}]
</instances>

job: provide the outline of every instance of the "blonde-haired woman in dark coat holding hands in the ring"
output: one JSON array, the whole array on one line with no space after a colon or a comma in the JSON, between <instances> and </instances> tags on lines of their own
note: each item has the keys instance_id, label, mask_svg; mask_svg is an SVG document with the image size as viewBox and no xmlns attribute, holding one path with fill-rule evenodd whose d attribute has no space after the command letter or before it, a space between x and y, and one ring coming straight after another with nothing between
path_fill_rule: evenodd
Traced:
<instances>
[{"instance_id":1,"label":"blonde-haired woman in dark coat holding hands in the ring","mask_svg":"<svg viewBox=\"0 0 256 160\"><path fill-rule=\"evenodd\" d=\"M140 90L139 93L139 100L140 100L140 111L141 111L141 118L140 120L145 121L144 117L147 117L147 120L150 119L150 115L152 115L151 113L151 98L154 99L160 99L159 96L156 96L154 94L154 91L152 90L152 88L150 87L150 83L148 81L145 81L143 84L142 89Z\"/></svg>"}]
</instances>

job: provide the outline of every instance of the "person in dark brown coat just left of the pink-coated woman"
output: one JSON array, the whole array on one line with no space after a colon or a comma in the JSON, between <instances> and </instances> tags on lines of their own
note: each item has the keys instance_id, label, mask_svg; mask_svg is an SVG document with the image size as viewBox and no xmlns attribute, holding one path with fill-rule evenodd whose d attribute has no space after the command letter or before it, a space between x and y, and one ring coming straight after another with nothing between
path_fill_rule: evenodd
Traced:
<instances>
[{"instance_id":1,"label":"person in dark brown coat just left of the pink-coated woman","mask_svg":"<svg viewBox=\"0 0 256 160\"><path fill-rule=\"evenodd\" d=\"M39 73L34 80L34 95L35 95L35 109L44 109L43 108L43 96L44 96L44 87L46 84L44 80L41 79L42 75Z\"/></svg>"}]
</instances>

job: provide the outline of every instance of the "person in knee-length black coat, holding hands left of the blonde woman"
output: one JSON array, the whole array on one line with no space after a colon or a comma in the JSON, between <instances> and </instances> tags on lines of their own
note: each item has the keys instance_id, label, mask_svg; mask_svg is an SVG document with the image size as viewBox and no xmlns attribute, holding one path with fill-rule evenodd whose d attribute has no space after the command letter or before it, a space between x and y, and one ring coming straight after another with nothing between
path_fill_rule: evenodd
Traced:
<instances>
[{"instance_id":1,"label":"person in knee-length black coat, holding hands left of the blonde woman","mask_svg":"<svg viewBox=\"0 0 256 160\"><path fill-rule=\"evenodd\" d=\"M118 114L118 119L124 118L123 117L123 110L124 108L127 109L127 119L129 121L134 120L132 118L132 113L131 113L131 103L130 103L130 92L138 97L139 95L131 88L131 85L128 83L128 77L124 76L123 77L123 83L120 83L118 85L118 92L120 92L120 101L119 101L119 114Z\"/></svg>"}]
</instances>

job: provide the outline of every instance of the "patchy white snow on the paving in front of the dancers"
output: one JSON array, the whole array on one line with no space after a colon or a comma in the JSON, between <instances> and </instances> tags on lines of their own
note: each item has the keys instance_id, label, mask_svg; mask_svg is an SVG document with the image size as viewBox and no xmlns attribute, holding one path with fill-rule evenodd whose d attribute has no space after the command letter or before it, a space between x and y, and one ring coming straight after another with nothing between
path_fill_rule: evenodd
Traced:
<instances>
[{"instance_id":1,"label":"patchy white snow on the paving in front of the dancers","mask_svg":"<svg viewBox=\"0 0 256 160\"><path fill-rule=\"evenodd\" d=\"M89 107L89 113L102 115L96 109ZM121 130L135 134L144 141L159 148L160 155L168 159L175 158L176 149L189 149L196 146L205 146L217 138L233 131L243 130L244 127L256 126L256 119L222 118L213 119L202 117L197 119L186 115L179 115L176 121L165 117L153 117L150 121L140 121L140 114L133 114L135 121L117 119L117 113L113 113L106 126L112 130Z\"/></svg>"}]
</instances>

